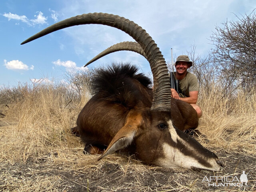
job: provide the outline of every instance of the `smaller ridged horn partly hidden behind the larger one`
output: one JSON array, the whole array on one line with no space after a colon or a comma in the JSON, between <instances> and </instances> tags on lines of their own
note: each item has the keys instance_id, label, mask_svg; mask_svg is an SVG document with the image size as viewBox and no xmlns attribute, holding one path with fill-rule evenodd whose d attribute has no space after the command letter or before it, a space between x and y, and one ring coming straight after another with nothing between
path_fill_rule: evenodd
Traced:
<instances>
[{"instance_id":1,"label":"smaller ridged horn partly hidden behind the larger one","mask_svg":"<svg viewBox=\"0 0 256 192\"><path fill-rule=\"evenodd\" d=\"M96 55L94 58L92 58L92 60L86 63L85 67L91 64L92 62L102 58L103 56L113 52L117 52L117 51L133 51L138 54L141 54L145 58L147 57L145 52L141 48L140 44L138 44L137 42L125 41L125 42L114 44L109 48L106 48L104 51L102 51L100 54Z\"/></svg>"}]
</instances>

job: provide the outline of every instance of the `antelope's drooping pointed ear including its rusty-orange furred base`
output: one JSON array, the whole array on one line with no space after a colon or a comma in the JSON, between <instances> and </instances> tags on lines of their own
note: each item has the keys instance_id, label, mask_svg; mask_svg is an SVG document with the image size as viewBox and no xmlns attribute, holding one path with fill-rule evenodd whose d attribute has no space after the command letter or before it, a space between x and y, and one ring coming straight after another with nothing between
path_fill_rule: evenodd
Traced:
<instances>
[{"instance_id":1,"label":"antelope's drooping pointed ear including its rusty-orange furred base","mask_svg":"<svg viewBox=\"0 0 256 192\"><path fill-rule=\"evenodd\" d=\"M130 145L138 132L138 127L140 126L141 122L141 114L135 110L130 111L126 118L126 124L117 132L106 151L102 154L102 156L100 156L100 158L98 158L98 160Z\"/></svg>"}]
</instances>

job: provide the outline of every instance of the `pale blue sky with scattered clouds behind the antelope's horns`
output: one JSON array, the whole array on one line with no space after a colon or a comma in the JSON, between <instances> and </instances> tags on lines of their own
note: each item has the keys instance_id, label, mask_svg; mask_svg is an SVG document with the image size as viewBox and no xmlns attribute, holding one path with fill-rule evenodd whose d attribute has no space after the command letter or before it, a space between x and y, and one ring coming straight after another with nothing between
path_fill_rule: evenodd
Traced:
<instances>
[{"instance_id":1,"label":"pale blue sky with scattered clouds behind the antelope's horns","mask_svg":"<svg viewBox=\"0 0 256 192\"><path fill-rule=\"evenodd\" d=\"M81 70L91 58L109 46L134 41L128 34L102 25L74 26L20 45L44 28L79 14L117 14L142 26L154 39L165 60L170 48L178 56L196 45L196 54L208 54L210 35L222 22L250 14L255 0L1 0L0 86L38 79L63 80L68 70ZM109 54L89 68L111 62L131 62L150 71L147 60L134 52Z\"/></svg>"}]
</instances>

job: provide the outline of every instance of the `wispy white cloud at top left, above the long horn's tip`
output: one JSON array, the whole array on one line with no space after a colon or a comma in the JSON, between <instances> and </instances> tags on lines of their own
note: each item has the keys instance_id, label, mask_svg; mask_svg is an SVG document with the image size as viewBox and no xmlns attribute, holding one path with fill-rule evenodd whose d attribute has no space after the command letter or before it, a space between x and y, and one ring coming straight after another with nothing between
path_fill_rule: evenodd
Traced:
<instances>
[{"instance_id":1,"label":"wispy white cloud at top left, above the long horn's tip","mask_svg":"<svg viewBox=\"0 0 256 192\"><path fill-rule=\"evenodd\" d=\"M8 21L10 21L11 19L14 19L14 20L24 22L24 23L28 24L29 26L34 26L36 24L47 24L47 22L46 22L47 17L44 17L43 13L40 12L40 11L38 11L37 13L38 13L38 15L34 16L34 17L36 17L35 19L28 19L24 15L20 16L20 15L13 14L13 13L10 13L10 12L3 14L3 16L8 18ZM17 23L16 23L16 25L17 25Z\"/></svg>"}]
</instances>

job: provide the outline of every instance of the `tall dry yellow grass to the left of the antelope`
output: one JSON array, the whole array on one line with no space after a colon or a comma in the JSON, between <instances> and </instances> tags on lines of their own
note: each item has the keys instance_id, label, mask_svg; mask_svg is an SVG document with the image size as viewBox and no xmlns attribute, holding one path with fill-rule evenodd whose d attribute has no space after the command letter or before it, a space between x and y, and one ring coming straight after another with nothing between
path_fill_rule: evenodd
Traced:
<instances>
[{"instance_id":1,"label":"tall dry yellow grass to the left of the antelope","mask_svg":"<svg viewBox=\"0 0 256 192\"><path fill-rule=\"evenodd\" d=\"M8 104L2 123L7 126L2 130L0 159L26 162L28 157L42 157L56 147L77 146L79 142L70 128L76 125L76 117L89 99L87 92L77 100L68 95L64 85L40 84L19 90L21 98Z\"/></svg>"}]
</instances>

